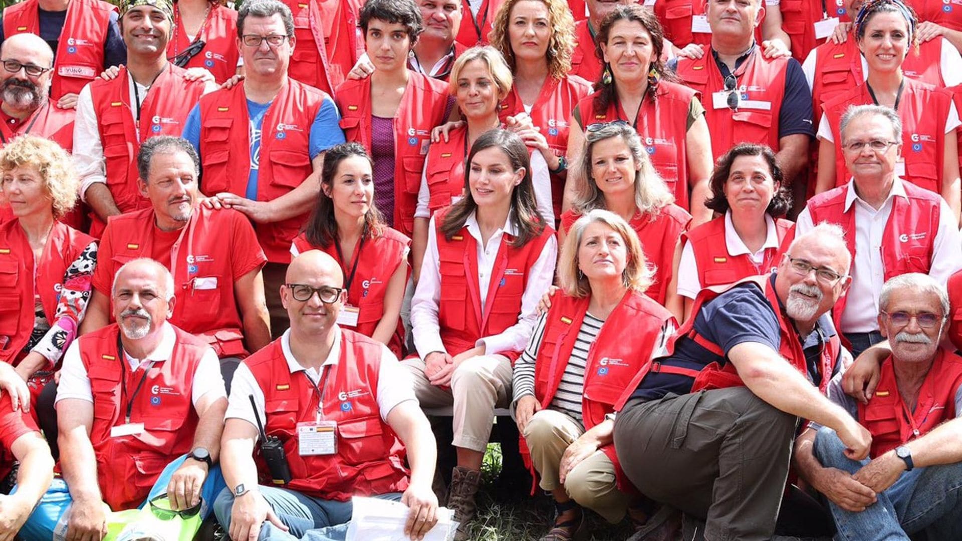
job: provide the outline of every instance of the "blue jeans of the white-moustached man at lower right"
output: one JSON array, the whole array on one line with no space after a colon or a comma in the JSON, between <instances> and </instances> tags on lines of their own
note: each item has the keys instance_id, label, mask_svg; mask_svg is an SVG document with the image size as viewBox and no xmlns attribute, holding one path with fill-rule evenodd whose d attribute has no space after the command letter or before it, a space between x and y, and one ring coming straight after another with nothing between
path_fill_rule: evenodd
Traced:
<instances>
[{"instance_id":1,"label":"blue jeans of the white-moustached man at lower right","mask_svg":"<svg viewBox=\"0 0 962 541\"><path fill-rule=\"evenodd\" d=\"M826 468L854 474L869 460L845 455L835 430L823 427L815 438L815 456ZM962 539L962 463L915 468L905 472L862 512L829 502L838 533L835 539L908 539L925 531L929 539Z\"/></svg>"}]
</instances>

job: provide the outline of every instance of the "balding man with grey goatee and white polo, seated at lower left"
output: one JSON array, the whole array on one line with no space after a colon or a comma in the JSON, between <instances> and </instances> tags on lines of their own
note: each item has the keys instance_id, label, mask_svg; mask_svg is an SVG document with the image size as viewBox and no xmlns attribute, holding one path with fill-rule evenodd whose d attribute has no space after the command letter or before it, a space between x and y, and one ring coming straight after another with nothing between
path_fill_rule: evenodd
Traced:
<instances>
[{"instance_id":1,"label":"balding man with grey goatee and white polo, seated at lower left","mask_svg":"<svg viewBox=\"0 0 962 541\"><path fill-rule=\"evenodd\" d=\"M26 539L102 539L106 513L166 492L196 514L223 487L217 461L227 398L206 342L171 325L166 268L135 259L117 271L116 323L75 340L57 391L61 470L24 525ZM148 498L149 495L149 498Z\"/></svg>"}]
</instances>

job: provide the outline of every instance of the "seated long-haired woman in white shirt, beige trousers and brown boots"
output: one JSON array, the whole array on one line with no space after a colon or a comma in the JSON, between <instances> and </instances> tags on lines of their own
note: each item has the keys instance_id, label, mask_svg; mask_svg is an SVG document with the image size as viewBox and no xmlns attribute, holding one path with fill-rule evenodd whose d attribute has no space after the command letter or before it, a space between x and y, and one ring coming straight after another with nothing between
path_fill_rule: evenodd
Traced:
<instances>
[{"instance_id":1,"label":"seated long-haired woman in white shirt, beige trousers and brown boots","mask_svg":"<svg viewBox=\"0 0 962 541\"><path fill-rule=\"evenodd\" d=\"M538 215L528 151L507 130L468 154L465 197L431 219L411 303L417 356L404 360L422 406L453 405L458 465L447 506L468 539L494 408L511 400L512 365L551 283L557 244Z\"/></svg>"}]
</instances>

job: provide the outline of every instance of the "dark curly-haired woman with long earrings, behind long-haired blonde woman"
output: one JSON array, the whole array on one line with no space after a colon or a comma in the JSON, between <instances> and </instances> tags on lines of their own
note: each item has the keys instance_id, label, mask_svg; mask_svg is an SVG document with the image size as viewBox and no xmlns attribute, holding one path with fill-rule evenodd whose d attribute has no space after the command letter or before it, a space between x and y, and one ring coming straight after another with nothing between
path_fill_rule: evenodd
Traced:
<instances>
[{"instance_id":1,"label":"dark curly-haired woman with long earrings, behind long-haired blonde woman","mask_svg":"<svg viewBox=\"0 0 962 541\"><path fill-rule=\"evenodd\" d=\"M658 19L637 4L618 6L597 33L596 54L604 63L597 91L571 115L571 162L581 154L585 130L598 122L624 120L645 141L651 164L696 223L711 219L704 207L712 171L712 144L705 110L695 90L671 81L661 61L664 34ZM574 197L576 171L568 176L566 201ZM567 208L567 206L566 206Z\"/></svg>"}]
</instances>

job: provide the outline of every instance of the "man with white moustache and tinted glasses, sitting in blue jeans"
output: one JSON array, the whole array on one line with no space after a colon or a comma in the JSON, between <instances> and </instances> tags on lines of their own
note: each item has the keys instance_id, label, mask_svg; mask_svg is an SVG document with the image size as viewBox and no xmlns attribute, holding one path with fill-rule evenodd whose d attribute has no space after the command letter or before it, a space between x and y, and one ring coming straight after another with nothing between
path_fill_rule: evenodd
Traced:
<instances>
[{"instance_id":1,"label":"man with white moustache and tinted glasses, sitting in blue jeans","mask_svg":"<svg viewBox=\"0 0 962 541\"><path fill-rule=\"evenodd\" d=\"M848 397L842 374L828 388L872 432L871 460L853 460L834 430L815 425L798 437L798 473L827 497L836 539L907 539L923 530L928 539L959 539L962 356L939 348L949 296L912 272L886 282L878 306L891 354L872 399Z\"/></svg>"}]
</instances>

